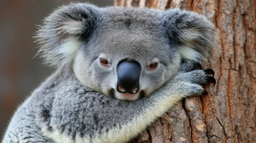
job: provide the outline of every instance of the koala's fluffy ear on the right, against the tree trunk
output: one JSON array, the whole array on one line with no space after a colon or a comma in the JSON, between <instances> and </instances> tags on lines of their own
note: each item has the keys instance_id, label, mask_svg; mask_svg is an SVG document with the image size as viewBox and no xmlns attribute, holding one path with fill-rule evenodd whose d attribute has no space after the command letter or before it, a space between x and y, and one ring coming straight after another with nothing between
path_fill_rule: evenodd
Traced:
<instances>
[{"instance_id":1,"label":"koala's fluffy ear on the right, against the tree trunk","mask_svg":"<svg viewBox=\"0 0 256 143\"><path fill-rule=\"evenodd\" d=\"M205 16L191 11L170 9L164 14L163 27L170 42L179 47L184 60L209 64L216 29Z\"/></svg>"}]
</instances>

